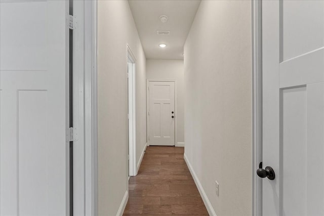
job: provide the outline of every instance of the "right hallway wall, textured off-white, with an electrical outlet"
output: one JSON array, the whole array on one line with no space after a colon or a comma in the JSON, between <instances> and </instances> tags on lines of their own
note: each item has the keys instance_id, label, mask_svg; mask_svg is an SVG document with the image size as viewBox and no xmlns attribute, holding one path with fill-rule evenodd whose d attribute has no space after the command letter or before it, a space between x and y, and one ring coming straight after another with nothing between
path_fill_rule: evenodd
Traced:
<instances>
[{"instance_id":1,"label":"right hallway wall, textured off-white, with an electrical outlet","mask_svg":"<svg viewBox=\"0 0 324 216\"><path fill-rule=\"evenodd\" d=\"M251 19L251 1L201 1L184 48L185 155L218 216L252 214Z\"/></svg>"}]
</instances>

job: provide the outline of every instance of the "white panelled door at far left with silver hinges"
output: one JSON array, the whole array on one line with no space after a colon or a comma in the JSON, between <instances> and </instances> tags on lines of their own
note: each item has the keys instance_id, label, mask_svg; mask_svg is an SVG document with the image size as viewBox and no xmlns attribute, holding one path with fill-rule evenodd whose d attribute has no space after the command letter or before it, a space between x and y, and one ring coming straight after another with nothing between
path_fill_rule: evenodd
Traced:
<instances>
[{"instance_id":1,"label":"white panelled door at far left with silver hinges","mask_svg":"<svg viewBox=\"0 0 324 216\"><path fill-rule=\"evenodd\" d=\"M0 2L0 214L65 215L68 1Z\"/></svg>"}]
</instances>

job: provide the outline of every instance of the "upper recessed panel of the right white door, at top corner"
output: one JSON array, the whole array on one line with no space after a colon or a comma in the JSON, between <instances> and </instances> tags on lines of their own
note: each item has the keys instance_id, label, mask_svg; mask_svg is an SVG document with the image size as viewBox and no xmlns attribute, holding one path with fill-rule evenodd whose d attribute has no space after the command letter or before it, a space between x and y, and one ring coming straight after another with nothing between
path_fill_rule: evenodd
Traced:
<instances>
[{"instance_id":1,"label":"upper recessed panel of the right white door, at top corner","mask_svg":"<svg viewBox=\"0 0 324 216\"><path fill-rule=\"evenodd\" d=\"M280 2L280 24L282 29L282 61L324 46L322 1L282 1ZM310 40L311 38L311 40ZM307 41L307 43L305 43Z\"/></svg>"}]
</instances>

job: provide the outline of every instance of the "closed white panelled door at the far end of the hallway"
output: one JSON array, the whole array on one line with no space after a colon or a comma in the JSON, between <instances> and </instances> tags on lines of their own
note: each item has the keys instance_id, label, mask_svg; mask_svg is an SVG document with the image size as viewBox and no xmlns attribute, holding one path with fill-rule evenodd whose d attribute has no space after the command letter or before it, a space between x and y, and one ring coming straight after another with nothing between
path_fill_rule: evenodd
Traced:
<instances>
[{"instance_id":1,"label":"closed white panelled door at the far end of the hallway","mask_svg":"<svg viewBox=\"0 0 324 216\"><path fill-rule=\"evenodd\" d=\"M175 145L174 82L149 82L149 145Z\"/></svg>"}]
</instances>

